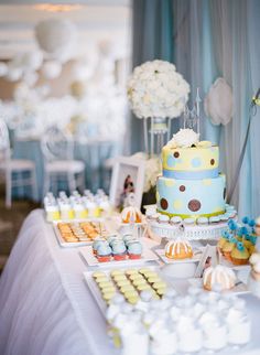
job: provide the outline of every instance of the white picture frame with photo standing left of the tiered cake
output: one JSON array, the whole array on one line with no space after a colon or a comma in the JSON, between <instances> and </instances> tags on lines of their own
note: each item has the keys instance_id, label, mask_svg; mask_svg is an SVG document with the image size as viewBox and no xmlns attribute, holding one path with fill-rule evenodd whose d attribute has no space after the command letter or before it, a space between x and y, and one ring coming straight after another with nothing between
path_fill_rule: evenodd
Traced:
<instances>
[{"instance_id":1,"label":"white picture frame with photo standing left of the tiered cake","mask_svg":"<svg viewBox=\"0 0 260 355\"><path fill-rule=\"evenodd\" d=\"M144 161L120 157L115 160L110 184L110 203L116 208L128 205L134 198L134 206L141 207L145 165Z\"/></svg>"}]
</instances>

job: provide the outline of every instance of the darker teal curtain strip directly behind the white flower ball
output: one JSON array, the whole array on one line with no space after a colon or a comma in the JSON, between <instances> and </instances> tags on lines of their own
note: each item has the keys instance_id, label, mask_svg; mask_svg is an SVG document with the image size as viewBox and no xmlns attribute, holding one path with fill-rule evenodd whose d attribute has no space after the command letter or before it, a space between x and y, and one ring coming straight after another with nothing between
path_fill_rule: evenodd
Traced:
<instances>
[{"instance_id":1,"label":"darker teal curtain strip directly behind the white flower ball","mask_svg":"<svg viewBox=\"0 0 260 355\"><path fill-rule=\"evenodd\" d=\"M147 61L173 62L172 0L132 1L132 67ZM143 123L130 118L131 152L143 151Z\"/></svg>"}]
</instances>

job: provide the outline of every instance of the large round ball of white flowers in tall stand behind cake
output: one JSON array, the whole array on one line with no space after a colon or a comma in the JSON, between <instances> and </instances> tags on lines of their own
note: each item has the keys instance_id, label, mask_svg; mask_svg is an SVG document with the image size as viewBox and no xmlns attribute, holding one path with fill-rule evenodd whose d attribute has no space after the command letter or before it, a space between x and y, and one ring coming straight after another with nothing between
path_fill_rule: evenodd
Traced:
<instances>
[{"instance_id":1,"label":"large round ball of white flowers in tall stand behind cake","mask_svg":"<svg viewBox=\"0 0 260 355\"><path fill-rule=\"evenodd\" d=\"M175 118L184 111L189 85L176 72L175 65L156 60L137 66L127 89L138 118Z\"/></svg>"}]
</instances>

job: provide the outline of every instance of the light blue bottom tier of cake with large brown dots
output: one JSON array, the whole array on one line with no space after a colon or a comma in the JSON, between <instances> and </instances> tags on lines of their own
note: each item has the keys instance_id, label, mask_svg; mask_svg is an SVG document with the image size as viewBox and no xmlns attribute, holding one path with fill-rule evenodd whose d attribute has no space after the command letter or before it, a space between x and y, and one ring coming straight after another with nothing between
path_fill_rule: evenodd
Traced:
<instances>
[{"instance_id":1,"label":"light blue bottom tier of cake with large brown dots","mask_svg":"<svg viewBox=\"0 0 260 355\"><path fill-rule=\"evenodd\" d=\"M158 211L169 216L210 217L225 213L226 176L183 180L158 178Z\"/></svg>"}]
</instances>

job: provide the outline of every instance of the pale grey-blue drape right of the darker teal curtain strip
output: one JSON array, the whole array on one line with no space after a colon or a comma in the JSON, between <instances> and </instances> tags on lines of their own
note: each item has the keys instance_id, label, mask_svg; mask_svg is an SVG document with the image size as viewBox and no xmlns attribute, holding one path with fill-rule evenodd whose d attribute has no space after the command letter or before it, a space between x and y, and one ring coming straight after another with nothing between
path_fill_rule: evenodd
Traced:
<instances>
[{"instance_id":1,"label":"pale grey-blue drape right of the darker teal curtain strip","mask_svg":"<svg viewBox=\"0 0 260 355\"><path fill-rule=\"evenodd\" d=\"M220 146L221 170L227 186L235 171L246 135L249 106L260 86L260 2L258 0L175 0L176 66L205 95L218 76L234 90L235 112L230 123L214 127L203 114L203 138ZM258 41L258 42L257 42ZM250 138L232 203L239 215L260 214L260 108L252 120Z\"/></svg>"}]
</instances>

